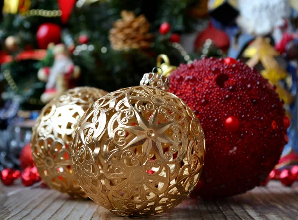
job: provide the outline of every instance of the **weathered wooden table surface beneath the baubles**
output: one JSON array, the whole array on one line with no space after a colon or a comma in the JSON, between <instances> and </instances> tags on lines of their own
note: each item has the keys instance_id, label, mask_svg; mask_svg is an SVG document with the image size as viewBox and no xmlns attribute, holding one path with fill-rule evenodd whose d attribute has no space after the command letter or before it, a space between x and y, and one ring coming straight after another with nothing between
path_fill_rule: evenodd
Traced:
<instances>
[{"instance_id":1,"label":"weathered wooden table surface beneath the baubles","mask_svg":"<svg viewBox=\"0 0 298 220\"><path fill-rule=\"evenodd\" d=\"M0 220L124 220L91 200L72 199L55 190L36 185L24 187L0 183ZM138 220L146 218L138 218ZM150 217L154 220L209 220L209 219L298 219L298 182L292 187L271 181L267 187L257 187L246 194L224 200L204 201L187 198L176 208Z\"/></svg>"}]
</instances>

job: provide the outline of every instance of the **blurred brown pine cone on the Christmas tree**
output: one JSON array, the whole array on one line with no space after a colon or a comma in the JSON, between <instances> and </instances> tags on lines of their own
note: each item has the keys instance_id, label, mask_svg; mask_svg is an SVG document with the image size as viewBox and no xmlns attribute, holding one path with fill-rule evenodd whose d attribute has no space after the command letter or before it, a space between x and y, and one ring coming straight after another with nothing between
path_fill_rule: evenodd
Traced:
<instances>
[{"instance_id":1,"label":"blurred brown pine cone on the Christmas tree","mask_svg":"<svg viewBox=\"0 0 298 220\"><path fill-rule=\"evenodd\" d=\"M109 39L114 50L147 49L153 35L148 33L150 23L142 14L138 17L133 12L123 10L122 19L114 23Z\"/></svg>"}]
</instances>

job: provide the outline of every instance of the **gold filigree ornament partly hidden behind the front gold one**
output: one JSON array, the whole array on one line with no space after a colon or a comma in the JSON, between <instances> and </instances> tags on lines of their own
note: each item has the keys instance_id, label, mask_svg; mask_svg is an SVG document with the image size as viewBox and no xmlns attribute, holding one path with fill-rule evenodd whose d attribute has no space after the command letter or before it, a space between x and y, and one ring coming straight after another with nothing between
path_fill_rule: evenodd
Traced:
<instances>
[{"instance_id":1,"label":"gold filigree ornament partly hidden behind the front gold one","mask_svg":"<svg viewBox=\"0 0 298 220\"><path fill-rule=\"evenodd\" d=\"M107 92L76 87L53 99L41 111L33 128L31 149L43 182L73 197L87 198L72 171L71 144L79 119Z\"/></svg>"}]
</instances>

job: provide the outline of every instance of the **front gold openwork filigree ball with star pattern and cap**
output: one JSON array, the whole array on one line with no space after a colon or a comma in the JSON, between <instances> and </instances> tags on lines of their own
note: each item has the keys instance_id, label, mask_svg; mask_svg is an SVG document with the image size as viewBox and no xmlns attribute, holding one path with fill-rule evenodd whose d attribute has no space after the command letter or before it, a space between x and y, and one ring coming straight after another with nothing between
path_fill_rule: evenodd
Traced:
<instances>
[{"instance_id":1,"label":"front gold openwork filigree ball with star pattern and cap","mask_svg":"<svg viewBox=\"0 0 298 220\"><path fill-rule=\"evenodd\" d=\"M149 216L177 206L198 183L205 137L193 111L147 73L141 86L111 92L81 118L71 147L84 192L121 216Z\"/></svg>"}]
</instances>

